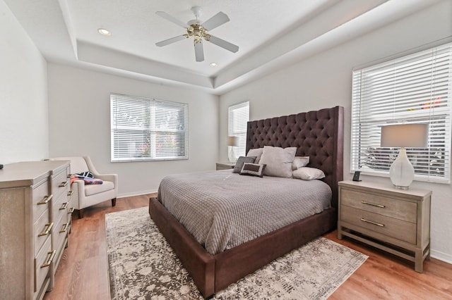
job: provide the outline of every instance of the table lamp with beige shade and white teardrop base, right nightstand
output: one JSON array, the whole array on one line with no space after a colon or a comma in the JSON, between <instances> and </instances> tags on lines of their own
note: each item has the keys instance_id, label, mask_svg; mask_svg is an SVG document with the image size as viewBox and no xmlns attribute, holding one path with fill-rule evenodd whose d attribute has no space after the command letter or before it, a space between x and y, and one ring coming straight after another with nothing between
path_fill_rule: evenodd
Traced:
<instances>
[{"instance_id":1,"label":"table lamp with beige shade and white teardrop base, right nightstand","mask_svg":"<svg viewBox=\"0 0 452 300\"><path fill-rule=\"evenodd\" d=\"M408 160L405 148L427 147L429 125L400 124L381 127L381 146L400 147L396 160L389 169L391 182L398 189L408 189L415 177L415 168Z\"/></svg>"}]
</instances>

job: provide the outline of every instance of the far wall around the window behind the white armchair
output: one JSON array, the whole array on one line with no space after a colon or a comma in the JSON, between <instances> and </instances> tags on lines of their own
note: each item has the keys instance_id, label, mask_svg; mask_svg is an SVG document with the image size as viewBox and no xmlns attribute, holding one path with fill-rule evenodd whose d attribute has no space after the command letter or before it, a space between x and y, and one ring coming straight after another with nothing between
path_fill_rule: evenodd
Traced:
<instances>
[{"instance_id":1,"label":"far wall around the window behind the white armchair","mask_svg":"<svg viewBox=\"0 0 452 300\"><path fill-rule=\"evenodd\" d=\"M215 170L218 96L194 89L49 63L49 155L92 158L101 173L117 173L119 196L157 192L162 177ZM110 162L110 93L189 104L189 160Z\"/></svg>"}]
</instances>

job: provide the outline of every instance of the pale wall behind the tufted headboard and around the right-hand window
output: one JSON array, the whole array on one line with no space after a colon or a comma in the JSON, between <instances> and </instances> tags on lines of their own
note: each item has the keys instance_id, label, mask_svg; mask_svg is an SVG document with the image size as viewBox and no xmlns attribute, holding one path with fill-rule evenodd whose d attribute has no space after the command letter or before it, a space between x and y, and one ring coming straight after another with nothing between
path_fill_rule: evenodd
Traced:
<instances>
[{"instance_id":1,"label":"pale wall behind the tufted headboard and around the right-hand window","mask_svg":"<svg viewBox=\"0 0 452 300\"><path fill-rule=\"evenodd\" d=\"M332 106L345 108L344 178L350 174L350 106L352 68L357 65L452 36L452 1L442 1L424 11L398 20L368 35L311 56L290 68L268 75L220 96L220 136L227 135L227 107L250 101L250 118ZM220 139L220 159L227 159ZM388 182L388 178L364 176L362 180ZM452 187L413 182L412 187L432 189L432 256L452 263Z\"/></svg>"}]
</instances>

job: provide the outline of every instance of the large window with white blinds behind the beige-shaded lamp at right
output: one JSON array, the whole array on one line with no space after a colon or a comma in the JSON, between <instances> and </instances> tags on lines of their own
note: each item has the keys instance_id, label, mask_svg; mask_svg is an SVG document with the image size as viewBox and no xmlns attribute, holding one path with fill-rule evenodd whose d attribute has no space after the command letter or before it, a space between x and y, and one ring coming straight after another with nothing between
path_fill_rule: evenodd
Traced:
<instances>
[{"instance_id":1,"label":"large window with white blinds behind the beige-shaded lamp at right","mask_svg":"<svg viewBox=\"0 0 452 300\"><path fill-rule=\"evenodd\" d=\"M425 149L406 149L415 180L450 182L452 43L353 71L351 169L387 175L398 148L381 126L428 123Z\"/></svg>"}]
</instances>

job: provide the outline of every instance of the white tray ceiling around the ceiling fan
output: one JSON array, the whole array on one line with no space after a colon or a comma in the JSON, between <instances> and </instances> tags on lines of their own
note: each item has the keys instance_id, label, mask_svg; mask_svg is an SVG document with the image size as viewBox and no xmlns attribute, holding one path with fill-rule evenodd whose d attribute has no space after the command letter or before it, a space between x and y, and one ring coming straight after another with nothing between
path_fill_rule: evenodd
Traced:
<instances>
[{"instance_id":1,"label":"white tray ceiling around the ceiling fan","mask_svg":"<svg viewBox=\"0 0 452 300\"><path fill-rule=\"evenodd\" d=\"M436 0L4 0L48 61L172 82L221 94L256 77L431 5ZM209 33L239 46L237 53L204 42L196 62L191 39L156 42L184 28L192 6L201 20L219 11L230 22ZM110 37L97 33L103 27ZM217 63L213 68L210 63Z\"/></svg>"}]
</instances>

